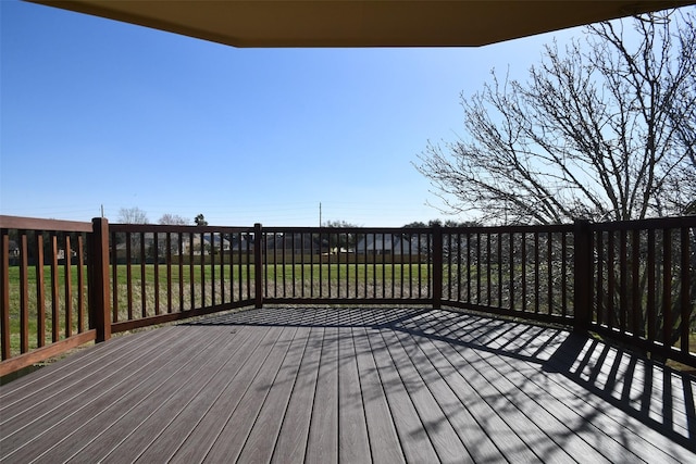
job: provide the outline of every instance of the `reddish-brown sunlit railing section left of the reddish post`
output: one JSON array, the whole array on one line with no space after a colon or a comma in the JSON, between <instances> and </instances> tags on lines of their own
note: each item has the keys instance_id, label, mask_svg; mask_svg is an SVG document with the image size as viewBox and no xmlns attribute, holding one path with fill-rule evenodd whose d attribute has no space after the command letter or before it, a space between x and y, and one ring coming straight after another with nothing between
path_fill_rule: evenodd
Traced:
<instances>
[{"instance_id":1,"label":"reddish-brown sunlit railing section left of the reddish post","mask_svg":"<svg viewBox=\"0 0 696 464\"><path fill-rule=\"evenodd\" d=\"M97 339L92 236L90 223L0 216L0 375Z\"/></svg>"}]
</instances>

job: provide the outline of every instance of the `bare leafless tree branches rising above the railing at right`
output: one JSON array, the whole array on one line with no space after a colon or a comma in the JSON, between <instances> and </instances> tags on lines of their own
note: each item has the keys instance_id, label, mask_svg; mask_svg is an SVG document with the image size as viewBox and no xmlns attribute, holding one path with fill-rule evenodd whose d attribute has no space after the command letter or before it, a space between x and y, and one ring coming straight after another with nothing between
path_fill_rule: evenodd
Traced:
<instances>
[{"instance_id":1,"label":"bare leafless tree branches rising above the railing at right","mask_svg":"<svg viewBox=\"0 0 696 464\"><path fill-rule=\"evenodd\" d=\"M632 27L629 27L629 24ZM557 224L683 214L696 200L696 34L689 11L586 27L529 81L462 97L467 137L415 167L449 212Z\"/></svg>"}]
</instances>

